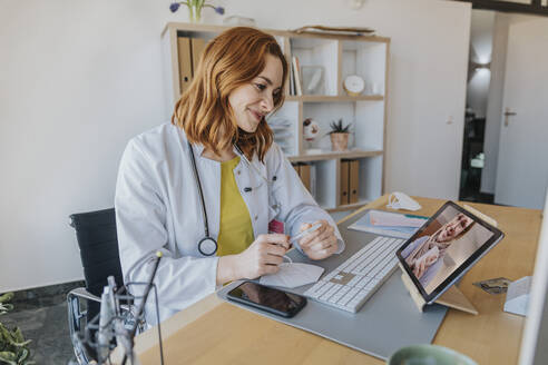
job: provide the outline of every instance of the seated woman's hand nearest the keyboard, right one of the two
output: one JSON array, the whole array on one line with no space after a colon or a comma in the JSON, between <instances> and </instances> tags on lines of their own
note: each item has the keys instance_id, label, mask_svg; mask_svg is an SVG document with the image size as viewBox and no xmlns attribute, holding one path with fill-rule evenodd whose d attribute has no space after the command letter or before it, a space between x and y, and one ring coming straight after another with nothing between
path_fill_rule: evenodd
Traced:
<instances>
[{"instance_id":1,"label":"seated woman's hand nearest the keyboard, right one of the two","mask_svg":"<svg viewBox=\"0 0 548 365\"><path fill-rule=\"evenodd\" d=\"M305 223L301 225L301 231L309 229L315 224L321 224L322 226L301 238L299 245L311 259L327 258L339 248L335 228L327 220L317 220L314 224Z\"/></svg>"}]
</instances>

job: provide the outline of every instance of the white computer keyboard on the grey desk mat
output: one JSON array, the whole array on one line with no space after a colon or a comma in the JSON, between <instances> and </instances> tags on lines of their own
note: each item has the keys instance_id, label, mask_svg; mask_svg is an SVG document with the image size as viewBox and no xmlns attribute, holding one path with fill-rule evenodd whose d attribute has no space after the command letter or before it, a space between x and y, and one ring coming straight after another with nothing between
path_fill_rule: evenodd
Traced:
<instances>
[{"instance_id":1,"label":"white computer keyboard on the grey desk mat","mask_svg":"<svg viewBox=\"0 0 548 365\"><path fill-rule=\"evenodd\" d=\"M332 307L356 313L373 293L394 272L395 251L405 240L376 237L304 295Z\"/></svg>"}]
</instances>

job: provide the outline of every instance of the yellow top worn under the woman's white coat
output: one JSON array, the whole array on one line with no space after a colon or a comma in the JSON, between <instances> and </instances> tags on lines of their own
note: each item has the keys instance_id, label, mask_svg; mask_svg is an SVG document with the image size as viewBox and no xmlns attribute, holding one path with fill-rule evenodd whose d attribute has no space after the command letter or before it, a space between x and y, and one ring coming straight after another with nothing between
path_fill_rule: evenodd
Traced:
<instances>
[{"instance_id":1,"label":"yellow top worn under the woman's white coat","mask_svg":"<svg viewBox=\"0 0 548 365\"><path fill-rule=\"evenodd\" d=\"M234 178L234 168L238 164L239 156L221 162L221 225L217 256L239 254L255 239L249 210Z\"/></svg>"}]
</instances>

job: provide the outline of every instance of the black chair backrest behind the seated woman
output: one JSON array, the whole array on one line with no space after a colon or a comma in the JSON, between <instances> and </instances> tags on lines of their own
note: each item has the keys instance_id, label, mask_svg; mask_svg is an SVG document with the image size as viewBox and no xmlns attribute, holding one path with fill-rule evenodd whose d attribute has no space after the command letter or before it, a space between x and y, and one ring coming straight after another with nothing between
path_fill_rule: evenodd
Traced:
<instances>
[{"instance_id":1,"label":"black chair backrest behind the seated woman","mask_svg":"<svg viewBox=\"0 0 548 365\"><path fill-rule=\"evenodd\" d=\"M70 215L70 226L76 229L80 247L86 289L100 297L110 275L115 277L118 287L124 285L115 209ZM92 303L88 305L88 320L91 320L97 315L99 306Z\"/></svg>"}]
</instances>

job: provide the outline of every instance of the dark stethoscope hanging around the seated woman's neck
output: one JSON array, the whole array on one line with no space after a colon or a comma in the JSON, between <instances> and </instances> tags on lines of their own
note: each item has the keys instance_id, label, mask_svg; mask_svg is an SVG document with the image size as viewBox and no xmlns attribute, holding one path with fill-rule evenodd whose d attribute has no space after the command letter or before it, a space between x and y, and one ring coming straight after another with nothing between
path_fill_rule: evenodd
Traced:
<instances>
[{"instance_id":1,"label":"dark stethoscope hanging around the seated woman's neck","mask_svg":"<svg viewBox=\"0 0 548 365\"><path fill-rule=\"evenodd\" d=\"M209 224L207 220L207 211L205 209L205 199L204 199L204 191L202 190L202 181L199 180L198 169L196 167L196 158L194 157L194 150L193 150L193 146L190 145L190 141L187 140L187 144L188 144L188 150L190 152L190 161L193 165L194 180L196 181L196 187L198 188L198 194L199 194L199 203L200 203L200 207L202 207L202 217L204 218L205 237L198 241L198 251L204 256L213 256L217 251L218 244L215 240L215 238L209 236ZM273 181L268 181L268 179L266 177L264 177L263 174L261 174L258 168L256 168L255 165L253 165L247 159L247 157L244 155L244 152L242 152L242 150L239 149L239 147L237 145L234 145L234 148L236 148L236 151L238 152L239 157L243 158L246 161L246 164L248 166L251 166L252 169L255 170L255 172L266 182L267 186L271 186L274 184L274 181L276 181L276 176L272 177ZM246 187L244 189L244 191L252 191L252 190L253 189L251 187ZM274 207L278 207L278 205L276 204Z\"/></svg>"}]
</instances>

